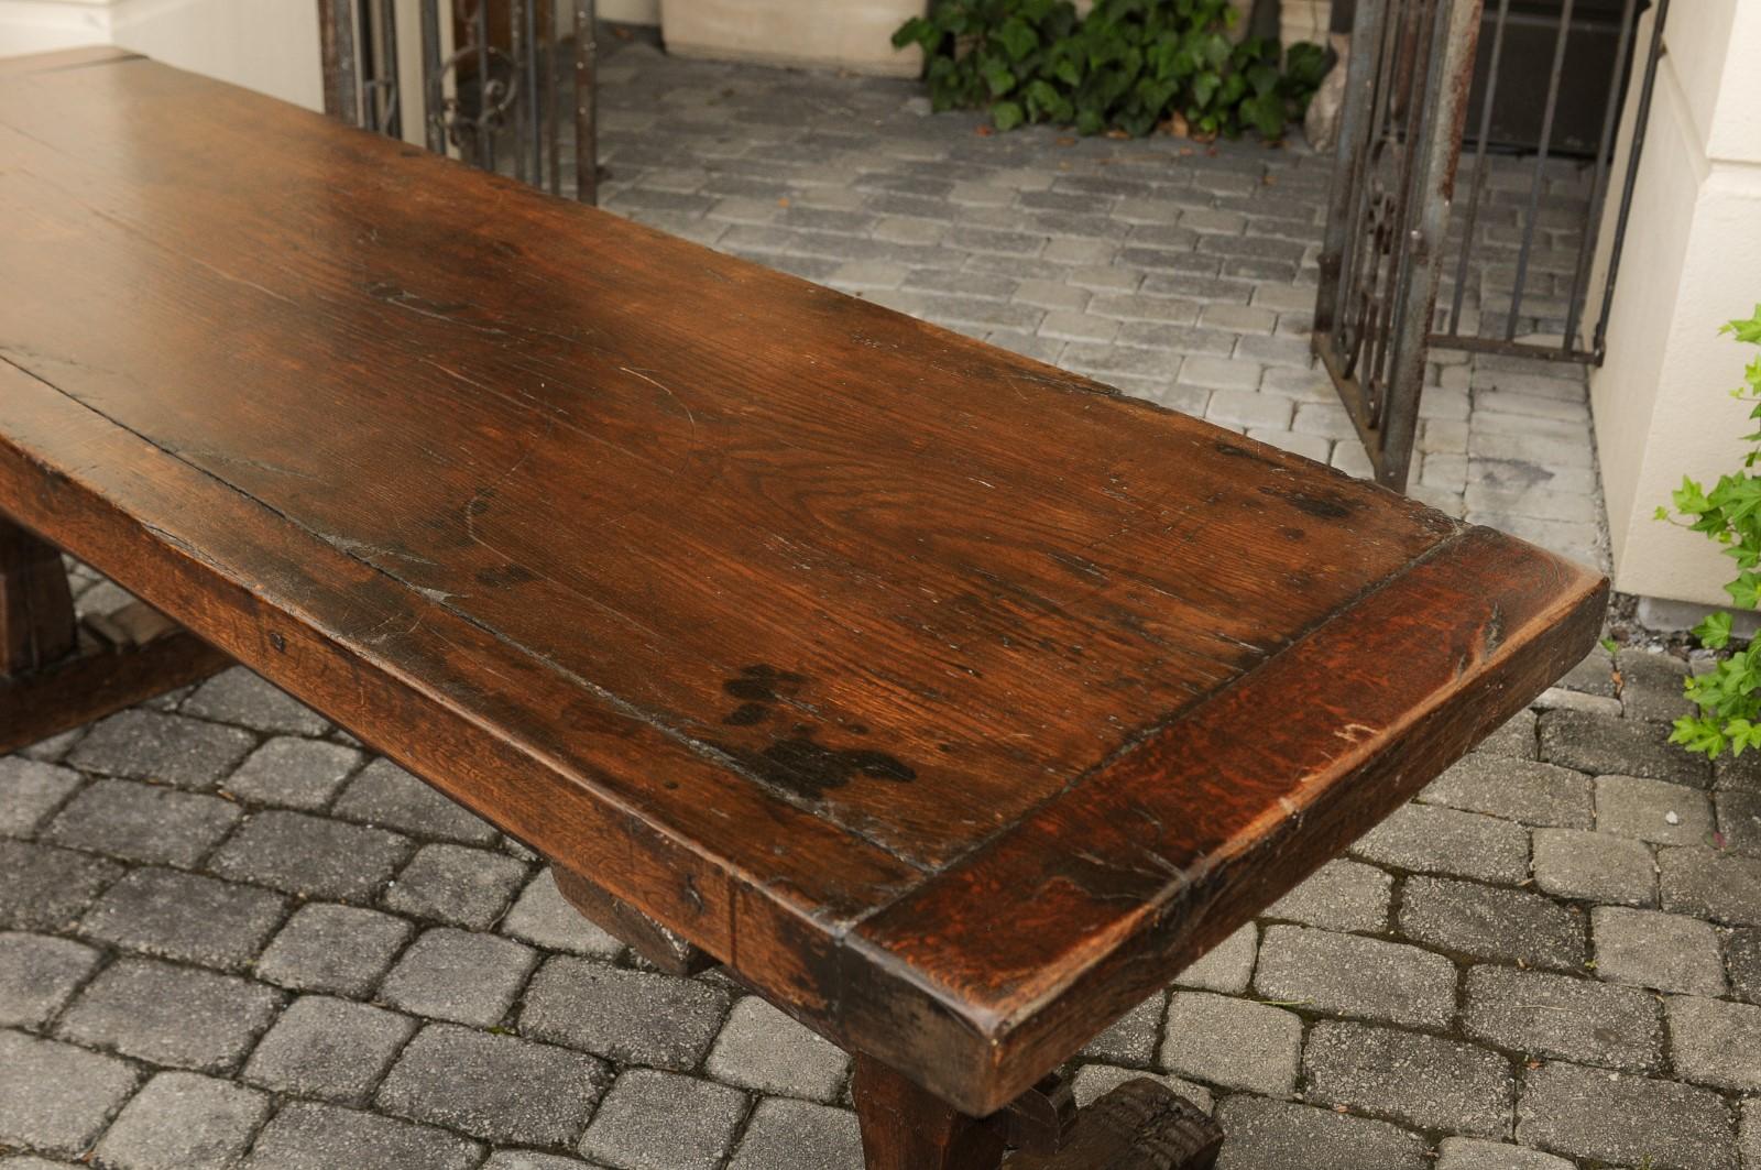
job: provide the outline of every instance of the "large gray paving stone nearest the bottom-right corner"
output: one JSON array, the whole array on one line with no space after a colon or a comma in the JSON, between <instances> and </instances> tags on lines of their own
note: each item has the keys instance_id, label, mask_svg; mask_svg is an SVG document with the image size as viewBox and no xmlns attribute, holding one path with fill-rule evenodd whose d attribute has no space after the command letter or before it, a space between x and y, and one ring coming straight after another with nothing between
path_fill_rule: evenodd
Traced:
<instances>
[{"instance_id":1,"label":"large gray paving stone nearest the bottom-right corner","mask_svg":"<svg viewBox=\"0 0 1761 1170\"><path fill-rule=\"evenodd\" d=\"M1713 1092L1576 1064L1529 1071L1516 1140L1652 1170L1736 1170L1729 1108Z\"/></svg>"}]
</instances>

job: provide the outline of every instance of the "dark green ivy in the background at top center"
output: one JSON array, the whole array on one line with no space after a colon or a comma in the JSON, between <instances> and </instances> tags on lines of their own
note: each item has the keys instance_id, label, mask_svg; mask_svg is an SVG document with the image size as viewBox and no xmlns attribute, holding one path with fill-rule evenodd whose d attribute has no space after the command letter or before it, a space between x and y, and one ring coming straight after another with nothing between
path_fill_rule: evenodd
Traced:
<instances>
[{"instance_id":1,"label":"dark green ivy in the background at top center","mask_svg":"<svg viewBox=\"0 0 1761 1170\"><path fill-rule=\"evenodd\" d=\"M1028 122L1141 137L1175 116L1197 137L1252 127L1277 139L1326 74L1326 51L1229 37L1229 0L933 0L893 44L925 53L930 100L988 109L998 130Z\"/></svg>"}]
</instances>

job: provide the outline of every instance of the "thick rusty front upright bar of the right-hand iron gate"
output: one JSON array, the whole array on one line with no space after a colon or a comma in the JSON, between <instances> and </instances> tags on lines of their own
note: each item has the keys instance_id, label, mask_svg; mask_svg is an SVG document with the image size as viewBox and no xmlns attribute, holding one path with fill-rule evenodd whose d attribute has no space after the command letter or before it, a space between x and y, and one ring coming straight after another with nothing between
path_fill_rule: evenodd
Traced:
<instances>
[{"instance_id":1,"label":"thick rusty front upright bar of the right-hand iron gate","mask_svg":"<svg viewBox=\"0 0 1761 1170\"><path fill-rule=\"evenodd\" d=\"M1569 5L1571 0L1567 0ZM1439 5L1449 0L1439 0ZM1432 30L1432 58L1425 109L1430 123L1418 148L1416 203L1419 215L1411 227L1411 268L1400 312L1393 356L1388 411L1379 428L1381 458L1375 478L1396 492L1405 490L1418 430L1419 393L1425 386L1425 356L1432 317L1437 312L1439 257L1449 233L1455 173L1462 160L1462 129L1467 122L1467 86L1479 46L1483 0L1455 0L1448 19ZM1407 231L1407 224L1400 224Z\"/></svg>"}]
</instances>

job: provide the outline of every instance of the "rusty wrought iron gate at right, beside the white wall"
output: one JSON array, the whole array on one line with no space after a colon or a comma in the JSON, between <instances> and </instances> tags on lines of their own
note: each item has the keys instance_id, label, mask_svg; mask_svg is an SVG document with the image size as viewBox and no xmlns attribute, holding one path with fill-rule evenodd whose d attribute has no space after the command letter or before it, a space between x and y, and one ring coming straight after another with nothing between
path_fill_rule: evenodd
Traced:
<instances>
[{"instance_id":1,"label":"rusty wrought iron gate at right, beside the white wall","mask_svg":"<svg viewBox=\"0 0 1761 1170\"><path fill-rule=\"evenodd\" d=\"M1655 0L1652 12L1611 247L1597 250L1597 226L1617 166L1627 58L1643 0L1624 0L1601 141L1587 164L1592 174L1576 247L1551 247L1550 240L1541 255L1537 234L1551 233L1543 227L1543 196L1551 174L1553 115L1574 7L1574 0L1558 2L1539 148L1532 160L1518 162L1488 155L1511 0L1497 0L1493 12L1486 11L1490 0L1358 0L1321 254L1314 347L1363 439L1377 481L1391 488L1402 490L1407 483L1432 347L1601 361L1669 0ZM1490 69L1476 118L1465 210L1451 231L1483 25L1490 32ZM1527 174L1527 189L1488 190L1497 162L1509 164L1506 169L1513 174ZM1495 194L1520 196L1514 222L1490 224L1486 208ZM1504 204L1513 210L1509 199ZM1493 231L1504 236L1495 238ZM1499 252L1506 245L1514 247L1513 255ZM1446 278L1449 296L1439 314L1439 289ZM1543 280L1546 287L1539 287ZM1595 300L1597 284L1601 308L1585 337L1587 307Z\"/></svg>"}]
</instances>

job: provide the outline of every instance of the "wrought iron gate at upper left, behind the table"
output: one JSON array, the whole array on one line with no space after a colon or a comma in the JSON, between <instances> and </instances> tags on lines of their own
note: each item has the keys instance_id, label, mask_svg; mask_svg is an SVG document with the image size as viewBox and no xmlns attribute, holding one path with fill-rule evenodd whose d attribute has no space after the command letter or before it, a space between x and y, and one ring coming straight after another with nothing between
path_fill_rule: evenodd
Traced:
<instances>
[{"instance_id":1,"label":"wrought iron gate at upper left, behind the table","mask_svg":"<svg viewBox=\"0 0 1761 1170\"><path fill-rule=\"evenodd\" d=\"M326 113L581 203L597 197L593 0L317 0ZM400 21L400 14L403 21ZM419 35L419 102L400 46Z\"/></svg>"}]
</instances>

